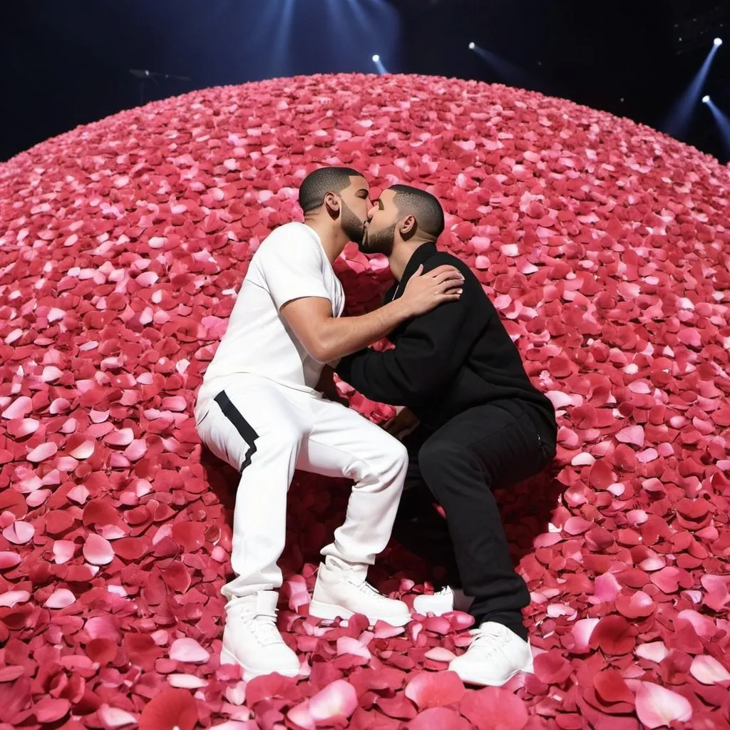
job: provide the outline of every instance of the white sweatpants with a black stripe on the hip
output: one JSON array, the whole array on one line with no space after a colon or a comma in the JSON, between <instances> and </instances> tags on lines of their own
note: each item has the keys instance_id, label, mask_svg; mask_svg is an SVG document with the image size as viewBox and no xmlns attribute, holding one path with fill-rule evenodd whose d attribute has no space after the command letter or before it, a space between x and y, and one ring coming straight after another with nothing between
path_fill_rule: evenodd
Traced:
<instances>
[{"instance_id":1,"label":"white sweatpants with a black stripe on the hip","mask_svg":"<svg viewBox=\"0 0 730 730\"><path fill-rule=\"evenodd\" d=\"M372 565L391 537L408 466L405 447L357 412L254 375L239 378L200 409L208 448L241 473L226 598L277 590L294 469L355 482L345 523L326 560Z\"/></svg>"}]
</instances>

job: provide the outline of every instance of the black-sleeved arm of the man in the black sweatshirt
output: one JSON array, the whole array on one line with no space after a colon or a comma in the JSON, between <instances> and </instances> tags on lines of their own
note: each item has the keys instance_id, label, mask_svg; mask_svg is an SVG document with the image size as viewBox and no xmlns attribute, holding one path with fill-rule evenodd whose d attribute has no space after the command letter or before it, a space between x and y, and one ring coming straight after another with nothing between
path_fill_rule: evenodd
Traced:
<instances>
[{"instance_id":1,"label":"black-sleeved arm of the man in the black sweatshirt","mask_svg":"<svg viewBox=\"0 0 730 730\"><path fill-rule=\"evenodd\" d=\"M479 337L484 323L473 313L469 316L477 296L483 296L480 283L467 277L459 301L413 320L393 350L361 350L343 358L335 369L338 376L374 401L422 404L453 382Z\"/></svg>"}]
</instances>

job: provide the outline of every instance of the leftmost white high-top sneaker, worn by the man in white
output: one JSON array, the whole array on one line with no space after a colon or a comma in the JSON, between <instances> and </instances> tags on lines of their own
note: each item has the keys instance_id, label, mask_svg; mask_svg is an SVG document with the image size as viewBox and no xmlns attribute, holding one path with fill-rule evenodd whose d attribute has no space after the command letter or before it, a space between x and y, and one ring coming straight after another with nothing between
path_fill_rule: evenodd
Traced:
<instances>
[{"instance_id":1,"label":"leftmost white high-top sneaker, worn by the man in white","mask_svg":"<svg viewBox=\"0 0 730 730\"><path fill-rule=\"evenodd\" d=\"M278 598L276 591L258 591L228 602L220 664L240 664L247 680L272 672L299 674L299 659L276 626Z\"/></svg>"}]
</instances>

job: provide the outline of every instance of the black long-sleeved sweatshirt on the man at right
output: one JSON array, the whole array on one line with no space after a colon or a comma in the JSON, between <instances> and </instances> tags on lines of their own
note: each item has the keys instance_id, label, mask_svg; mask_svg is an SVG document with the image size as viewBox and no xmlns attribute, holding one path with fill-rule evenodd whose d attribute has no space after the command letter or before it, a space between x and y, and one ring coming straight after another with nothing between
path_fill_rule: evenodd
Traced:
<instances>
[{"instance_id":1,"label":"black long-sleeved sweatshirt on the man at right","mask_svg":"<svg viewBox=\"0 0 730 730\"><path fill-rule=\"evenodd\" d=\"M385 293L385 303L401 296L420 264L424 272L456 266L464 274L461 299L402 323L389 338L393 350L366 349L342 358L339 377L366 398L409 407L431 428L468 408L500 401L509 410L537 415L555 433L553 404L530 383L499 314L463 261L433 243L420 245L401 281Z\"/></svg>"}]
</instances>

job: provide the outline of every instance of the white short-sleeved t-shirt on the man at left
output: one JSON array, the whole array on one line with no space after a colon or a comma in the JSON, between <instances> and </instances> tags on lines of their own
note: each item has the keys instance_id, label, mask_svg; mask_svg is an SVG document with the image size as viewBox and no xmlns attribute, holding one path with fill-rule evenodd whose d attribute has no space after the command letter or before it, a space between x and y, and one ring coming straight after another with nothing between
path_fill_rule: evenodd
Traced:
<instances>
[{"instance_id":1,"label":"white short-sleeved t-shirt on the man at left","mask_svg":"<svg viewBox=\"0 0 730 730\"><path fill-rule=\"evenodd\" d=\"M288 301L307 296L329 299L333 317L345 308L342 283L316 231L287 223L269 234L251 259L226 333L203 377L199 407L242 373L313 391L323 366L279 313Z\"/></svg>"}]
</instances>

